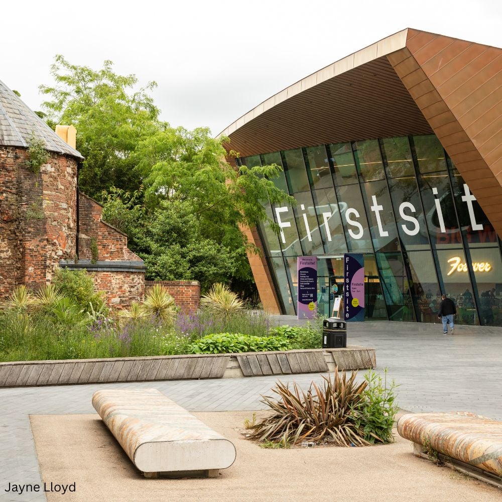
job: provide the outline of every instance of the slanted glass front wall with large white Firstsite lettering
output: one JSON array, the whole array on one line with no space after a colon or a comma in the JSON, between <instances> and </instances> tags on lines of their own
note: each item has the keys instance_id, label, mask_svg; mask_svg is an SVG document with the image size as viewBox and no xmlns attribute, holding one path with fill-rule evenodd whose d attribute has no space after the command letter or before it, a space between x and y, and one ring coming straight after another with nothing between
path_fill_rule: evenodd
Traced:
<instances>
[{"instance_id":1,"label":"slanted glass front wall with large white Firstsite lettering","mask_svg":"<svg viewBox=\"0 0 502 502\"><path fill-rule=\"evenodd\" d=\"M502 326L500 240L434 135L298 148L238 160L278 164L273 182L296 204L265 203L259 228L287 314L296 313L296 258L319 258L328 313L337 260L362 253L366 318L433 322L448 294L458 322ZM337 276L338 274L338 276Z\"/></svg>"}]
</instances>

